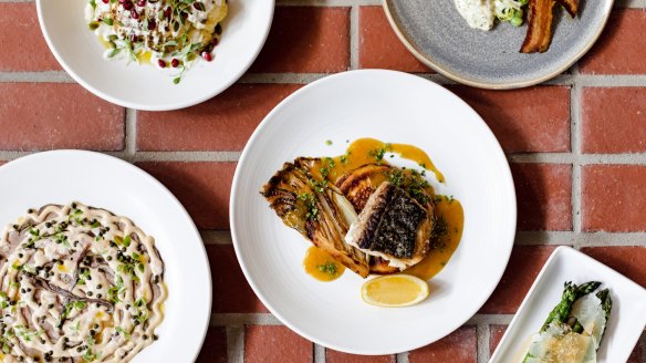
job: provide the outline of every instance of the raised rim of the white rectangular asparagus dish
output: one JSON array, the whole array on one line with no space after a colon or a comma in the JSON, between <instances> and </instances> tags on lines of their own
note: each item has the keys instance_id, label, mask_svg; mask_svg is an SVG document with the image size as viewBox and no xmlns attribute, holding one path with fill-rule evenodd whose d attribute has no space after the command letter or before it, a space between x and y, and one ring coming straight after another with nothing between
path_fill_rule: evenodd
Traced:
<instances>
[{"instance_id":1,"label":"raised rim of the white rectangular asparagus dish","mask_svg":"<svg viewBox=\"0 0 646 363\"><path fill-rule=\"evenodd\" d=\"M554 261L556 261L556 259L559 259L559 258L561 258L561 259L567 258L567 255L572 255L575 258L580 258L580 259L586 261L586 263L590 263L592 266L603 267L605 269L604 273L615 274L617 277L617 279L624 280L625 283L632 284L633 287L640 289L646 294L646 289L640 287L637 282L633 281L632 279L627 278L623 273L611 268L609 266L607 266L607 265L605 265L605 263L603 263L603 262L601 262L601 261L598 261L598 260L596 260L596 259L594 259L594 258L592 258L592 257L590 257L590 256L587 256L579 250L575 250L574 248L572 248L570 246L559 246L556 249L554 249L552 255L550 255L550 258L548 258L548 260L545 261L545 265L543 265L543 268L541 269L541 271L539 272L539 274L534 279L532 287L530 288L530 290L528 291L528 293L523 298L515 314L511 319L511 322L509 323L507 331L504 332L504 334L500 339L500 342L498 343L498 346L496 348L496 350L491 354L491 357L489 360L490 363L494 363L494 362L499 361L500 357L498 355L502 354L502 353L500 353L500 351L502 350L502 344L506 343L508 340L512 339L512 338L510 338L512 329L515 326L515 324L518 324L518 320L520 319L520 317L528 313L524 311L524 310L529 309L529 308L527 308L527 305L530 303L530 300L533 299L535 290L539 288L540 284L543 283L543 279L545 279L545 274L552 268L552 265L555 263ZM632 348L636 346L636 344L639 342L639 338L640 336L637 335L637 338L635 339L635 341L631 345ZM625 359L627 360L629 355L631 355L631 352L627 353ZM494 359L497 359L497 360L494 361Z\"/></svg>"}]
</instances>

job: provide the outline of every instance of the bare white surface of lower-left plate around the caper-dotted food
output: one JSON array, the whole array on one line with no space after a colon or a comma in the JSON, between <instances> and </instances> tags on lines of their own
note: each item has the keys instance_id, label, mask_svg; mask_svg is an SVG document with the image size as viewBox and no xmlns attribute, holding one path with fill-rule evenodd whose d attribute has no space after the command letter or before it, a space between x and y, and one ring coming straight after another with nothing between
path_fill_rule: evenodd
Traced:
<instances>
[{"instance_id":1,"label":"bare white surface of lower-left plate around the caper-dotted food","mask_svg":"<svg viewBox=\"0 0 646 363\"><path fill-rule=\"evenodd\" d=\"M153 236L166 269L166 317L159 340L133 362L195 361L211 310L209 263L192 220L159 182L103 154L46 152L0 167L0 229L29 208L77 200L126 216Z\"/></svg>"}]
</instances>

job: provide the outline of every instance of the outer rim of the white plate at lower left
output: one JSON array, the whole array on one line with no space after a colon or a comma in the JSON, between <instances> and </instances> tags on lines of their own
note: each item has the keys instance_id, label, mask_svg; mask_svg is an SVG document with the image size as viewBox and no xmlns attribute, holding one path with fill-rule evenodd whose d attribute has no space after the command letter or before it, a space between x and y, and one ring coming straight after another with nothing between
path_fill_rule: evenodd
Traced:
<instances>
[{"instance_id":1,"label":"outer rim of the white plate at lower left","mask_svg":"<svg viewBox=\"0 0 646 363\"><path fill-rule=\"evenodd\" d=\"M45 152L37 152L33 154L28 154L25 156L21 156L19 158L9 160L8 163L0 165L0 174L1 173L11 173L10 169L18 167L17 165L21 165L24 163L32 163L34 159L39 159L39 158L48 158L48 157L61 157L61 156L66 156L66 155L71 155L72 157L91 157L91 158L103 158L104 160L107 160L108 163L115 163L117 165L121 165L125 168L129 168L134 174L137 174L138 176L140 176L142 178L146 179L147 182L152 183L152 185L154 185L155 187L159 188L162 191L165 191L165 194L170 198L169 200L176 205L176 209L183 215L183 217L185 217L188 221L190 221L190 227L191 231L195 234L195 236L198 238L199 241L201 241L201 243L199 245L200 247L198 248L200 250L200 256L204 259L205 262L205 267L207 269L207 274L206 274L206 282L205 283L205 290L207 291L207 297L208 297L208 301L207 301L207 307L208 307L208 312L207 312L207 317L209 317L209 319L205 319L205 323L202 324L202 329L201 329L201 340L199 341L199 345L197 346L197 351L192 354L192 359L191 361L197 360L199 353L201 352L201 349L204 348L204 343L208 333L208 329L210 326L210 317L211 317L211 310L212 310L212 301L213 301L213 293L212 293L212 279L211 279L211 268L210 268L210 263L208 260L208 255L207 255L207 250L206 250L206 245L204 243L204 240L201 238L201 235L199 232L199 229L197 228L195 221L192 221L192 218L190 217L190 215L188 214L188 211L186 210L186 208L184 207L184 205L179 201L179 199L177 199L177 197L164 185L162 184L162 182L157 180L157 178L155 178L154 176L152 176L150 174L148 174L146 170L139 168L138 166L128 163L124 159L121 159L118 157L112 156L112 155L107 155L104 153L100 153L100 152L93 152L93 151L84 151L84 149L54 149L54 151L45 151ZM163 322L164 323L164 322ZM197 330L198 332L200 330ZM136 356L136 355L135 355Z\"/></svg>"}]
</instances>

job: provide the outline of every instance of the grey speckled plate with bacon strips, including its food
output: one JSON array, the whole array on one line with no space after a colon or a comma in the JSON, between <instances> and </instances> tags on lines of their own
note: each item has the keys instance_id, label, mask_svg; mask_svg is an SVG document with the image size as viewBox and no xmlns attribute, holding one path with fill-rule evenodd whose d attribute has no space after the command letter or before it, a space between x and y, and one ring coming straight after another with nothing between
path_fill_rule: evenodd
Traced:
<instances>
[{"instance_id":1,"label":"grey speckled plate with bacon strips, including its food","mask_svg":"<svg viewBox=\"0 0 646 363\"><path fill-rule=\"evenodd\" d=\"M467 85L517 89L550 80L583 56L601 35L613 2L384 0L383 4L399 40L426 65ZM561 4L573 4L566 9ZM481 17L482 8L489 17ZM532 21L532 12L539 13L533 9L544 9L543 17L533 18L544 18L549 24L536 25L542 20Z\"/></svg>"}]
</instances>

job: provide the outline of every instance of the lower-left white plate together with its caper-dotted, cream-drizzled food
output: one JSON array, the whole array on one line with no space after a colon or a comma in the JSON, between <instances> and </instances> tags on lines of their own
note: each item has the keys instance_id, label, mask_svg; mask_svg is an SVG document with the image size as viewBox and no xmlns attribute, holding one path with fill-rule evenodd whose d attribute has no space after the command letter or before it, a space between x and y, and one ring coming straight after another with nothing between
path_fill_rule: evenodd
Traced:
<instances>
[{"instance_id":1,"label":"lower-left white plate together with its caper-dotted, cream-drizzled food","mask_svg":"<svg viewBox=\"0 0 646 363\"><path fill-rule=\"evenodd\" d=\"M107 155L45 152L0 167L0 199L3 362L197 357L209 265L160 183Z\"/></svg>"}]
</instances>

